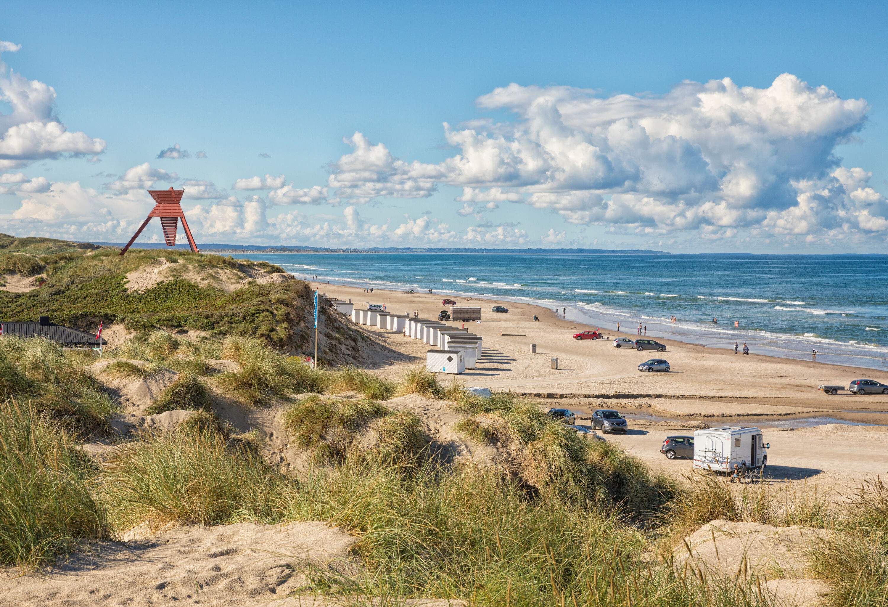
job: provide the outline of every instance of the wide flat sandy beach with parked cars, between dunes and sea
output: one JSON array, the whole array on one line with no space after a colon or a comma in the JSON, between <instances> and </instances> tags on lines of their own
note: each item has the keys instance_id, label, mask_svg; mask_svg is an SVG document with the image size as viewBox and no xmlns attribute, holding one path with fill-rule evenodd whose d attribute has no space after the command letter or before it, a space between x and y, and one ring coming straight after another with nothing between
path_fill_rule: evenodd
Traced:
<instances>
[{"instance_id":1,"label":"wide flat sandy beach with parked cars, between dunes and sea","mask_svg":"<svg viewBox=\"0 0 888 607\"><path fill-rule=\"evenodd\" d=\"M490 308L503 302L453 298L435 293L402 293L380 289L312 283L321 293L385 304L395 314L436 318L442 297L460 305L482 307L482 321L466 325L484 338L484 359L478 369L459 376L466 386L490 387L534 397L547 406L578 413L609 408L630 417L629 435L607 436L656 468L682 474L687 460L668 460L659 451L667 435L692 435L694 422L760 425L771 442L768 475L850 488L860 479L888 472L888 395L824 395L818 384L841 384L869 378L888 383L888 372L797 361L766 355L734 355L733 350L703 347L650 335L667 347L663 353L617 349L615 327L601 327L608 339L576 340L573 335L599 327L571 322L554 309L507 303L508 314ZM537 315L538 321L533 320ZM462 323L451 323L461 326ZM381 362L377 371L396 376L424 364L428 345L400 333L365 327L407 361ZM632 330L619 333L634 337ZM536 344L536 354L530 345ZM741 344L742 346L742 344ZM559 369L551 369L551 358ZM641 373L638 363L652 357L670 362L669 373ZM442 378L446 379L446 378ZM854 426L840 423L879 424ZM832 423L830 423L832 422ZM811 424L813 427L805 427Z\"/></svg>"}]
</instances>

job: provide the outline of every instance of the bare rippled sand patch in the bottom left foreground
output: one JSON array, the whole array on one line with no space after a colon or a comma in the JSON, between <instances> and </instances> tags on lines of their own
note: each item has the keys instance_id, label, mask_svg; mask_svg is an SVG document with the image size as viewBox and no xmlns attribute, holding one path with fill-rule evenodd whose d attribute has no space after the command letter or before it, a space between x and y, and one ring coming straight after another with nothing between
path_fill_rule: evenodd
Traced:
<instances>
[{"instance_id":1,"label":"bare rippled sand patch in the bottom left foreground","mask_svg":"<svg viewBox=\"0 0 888 607\"><path fill-rule=\"evenodd\" d=\"M95 605L314 605L335 600L287 595L305 584L294 571L305 563L353 573L356 538L327 523L178 527L125 543L99 542L43 575L2 580L0 603L87 607ZM444 607L447 601L408 605Z\"/></svg>"}]
</instances>

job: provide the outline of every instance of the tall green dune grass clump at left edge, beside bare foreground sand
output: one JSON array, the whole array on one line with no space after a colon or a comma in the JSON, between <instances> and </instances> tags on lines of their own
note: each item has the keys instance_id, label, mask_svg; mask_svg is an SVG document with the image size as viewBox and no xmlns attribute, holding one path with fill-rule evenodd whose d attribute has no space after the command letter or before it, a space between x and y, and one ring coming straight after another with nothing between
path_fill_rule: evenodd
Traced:
<instances>
[{"instance_id":1,"label":"tall green dune grass clump at left edge, beside bare foreground sand","mask_svg":"<svg viewBox=\"0 0 888 607\"><path fill-rule=\"evenodd\" d=\"M28 570L110 538L74 437L32 404L0 401L0 419L0 564Z\"/></svg>"}]
</instances>

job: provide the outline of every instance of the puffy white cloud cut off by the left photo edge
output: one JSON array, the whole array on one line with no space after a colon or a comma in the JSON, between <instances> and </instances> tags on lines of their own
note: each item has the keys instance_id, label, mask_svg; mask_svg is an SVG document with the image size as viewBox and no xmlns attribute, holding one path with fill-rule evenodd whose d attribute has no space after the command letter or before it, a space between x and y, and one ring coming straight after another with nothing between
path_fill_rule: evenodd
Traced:
<instances>
[{"instance_id":1,"label":"puffy white cloud cut off by the left photo edge","mask_svg":"<svg viewBox=\"0 0 888 607\"><path fill-rule=\"evenodd\" d=\"M0 42L0 52L16 52L19 44ZM60 156L95 155L105 141L84 132L69 132L55 116L52 86L6 68L0 61L0 101L12 111L0 113L0 170L25 166L35 160Z\"/></svg>"}]
</instances>

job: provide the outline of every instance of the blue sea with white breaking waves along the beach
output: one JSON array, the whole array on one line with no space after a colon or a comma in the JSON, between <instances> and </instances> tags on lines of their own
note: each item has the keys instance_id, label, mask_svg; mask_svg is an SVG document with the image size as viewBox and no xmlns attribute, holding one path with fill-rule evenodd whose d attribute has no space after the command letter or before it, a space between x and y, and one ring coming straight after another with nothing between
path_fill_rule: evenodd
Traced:
<instances>
[{"instance_id":1,"label":"blue sea with white breaking waves along the beach","mask_svg":"<svg viewBox=\"0 0 888 607\"><path fill-rule=\"evenodd\" d=\"M300 278L535 303L613 335L888 370L888 256L258 253ZM368 299L385 303L385 292ZM504 305L508 306L508 303ZM675 316L677 322L670 322ZM734 326L734 323L737 326Z\"/></svg>"}]
</instances>

